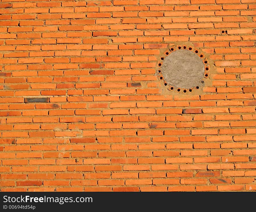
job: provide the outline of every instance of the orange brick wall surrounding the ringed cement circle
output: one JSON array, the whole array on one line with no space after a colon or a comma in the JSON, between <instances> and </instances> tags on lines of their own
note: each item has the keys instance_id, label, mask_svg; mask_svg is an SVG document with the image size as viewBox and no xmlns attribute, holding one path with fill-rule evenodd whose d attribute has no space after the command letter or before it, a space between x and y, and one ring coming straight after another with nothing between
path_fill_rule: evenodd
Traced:
<instances>
[{"instance_id":1,"label":"orange brick wall surrounding the ringed cement circle","mask_svg":"<svg viewBox=\"0 0 256 212\"><path fill-rule=\"evenodd\" d=\"M256 190L255 3L1 0L1 191ZM184 44L186 94L156 74Z\"/></svg>"}]
</instances>

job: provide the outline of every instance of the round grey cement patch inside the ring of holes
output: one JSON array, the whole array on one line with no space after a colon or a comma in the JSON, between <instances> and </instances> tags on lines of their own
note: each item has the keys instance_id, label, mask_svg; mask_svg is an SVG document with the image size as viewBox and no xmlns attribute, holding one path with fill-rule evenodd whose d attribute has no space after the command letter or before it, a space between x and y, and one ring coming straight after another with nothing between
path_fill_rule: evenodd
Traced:
<instances>
[{"instance_id":1,"label":"round grey cement patch inside the ring of holes","mask_svg":"<svg viewBox=\"0 0 256 212\"><path fill-rule=\"evenodd\" d=\"M164 80L177 88L202 86L205 66L202 59L189 50L177 50L164 60L161 72Z\"/></svg>"}]
</instances>

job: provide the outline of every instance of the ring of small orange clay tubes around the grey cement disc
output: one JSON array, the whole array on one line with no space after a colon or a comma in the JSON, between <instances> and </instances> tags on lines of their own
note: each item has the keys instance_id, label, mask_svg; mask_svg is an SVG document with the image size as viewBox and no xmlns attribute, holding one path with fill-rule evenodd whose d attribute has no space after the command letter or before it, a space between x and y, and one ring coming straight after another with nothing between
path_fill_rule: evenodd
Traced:
<instances>
[{"instance_id":1,"label":"ring of small orange clay tubes around the grey cement disc","mask_svg":"<svg viewBox=\"0 0 256 212\"><path fill-rule=\"evenodd\" d=\"M183 47L182 47L182 46L177 46L177 48L178 48L178 49L182 49L182 48L183 48L183 49L188 49L189 51L195 52L195 53L198 55L198 57L202 58L202 59L203 59L203 63L205 64L205 74L204 74L204 75L205 75L205 78L208 78L208 76L209 76L208 71L209 71L209 69L210 69L210 66L209 66L209 64L208 64L207 59L204 58L204 55L203 55L202 53L199 53L197 49L193 50L192 47L187 48L186 46L183 46ZM170 53L172 53L173 51L176 51L174 47L170 48L170 52L169 52L169 51L166 51L164 56L168 56L168 55L169 55ZM161 60L164 60L164 56L161 57ZM159 66L159 67L162 66L162 61L160 61L160 62L158 63L158 66ZM158 70L158 73L161 74L161 70ZM164 80L162 75L160 76L160 80ZM202 80L201 83L204 84L205 82ZM164 81L164 85L165 85L165 86L168 85L168 84L166 83L166 81ZM183 93L187 93L187 91L192 92L193 89L199 89L199 86L196 86L196 87L193 87L193 88L190 88L190 89L183 89ZM171 90L171 91L175 90L175 89L174 89L174 86L169 85L168 90ZM177 91L178 91L178 92L180 92L181 90L182 90L181 88L177 88Z\"/></svg>"}]
</instances>

